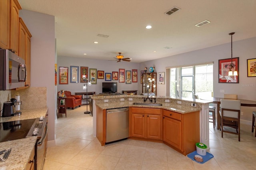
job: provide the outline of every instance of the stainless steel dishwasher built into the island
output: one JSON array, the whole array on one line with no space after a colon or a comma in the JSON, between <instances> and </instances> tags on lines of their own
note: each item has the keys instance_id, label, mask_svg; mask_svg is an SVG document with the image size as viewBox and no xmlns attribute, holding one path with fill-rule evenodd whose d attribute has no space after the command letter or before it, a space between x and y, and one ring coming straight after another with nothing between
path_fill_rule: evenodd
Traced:
<instances>
[{"instance_id":1,"label":"stainless steel dishwasher built into the island","mask_svg":"<svg viewBox=\"0 0 256 170\"><path fill-rule=\"evenodd\" d=\"M129 137L129 107L107 109L106 144Z\"/></svg>"}]
</instances>

